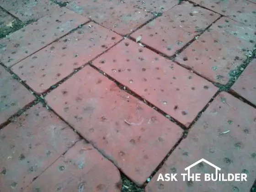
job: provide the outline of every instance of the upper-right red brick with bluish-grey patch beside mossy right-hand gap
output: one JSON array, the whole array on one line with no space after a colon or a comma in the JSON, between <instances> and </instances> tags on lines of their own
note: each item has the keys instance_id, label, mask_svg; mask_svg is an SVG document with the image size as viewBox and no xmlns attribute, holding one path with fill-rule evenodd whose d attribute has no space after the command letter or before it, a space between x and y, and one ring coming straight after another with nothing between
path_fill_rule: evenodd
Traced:
<instances>
[{"instance_id":1,"label":"upper-right red brick with bluish-grey patch beside mossy right-hand gap","mask_svg":"<svg viewBox=\"0 0 256 192\"><path fill-rule=\"evenodd\" d=\"M209 80L225 85L256 42L254 30L222 17L175 59ZM235 76L236 74L231 74Z\"/></svg>"}]
</instances>

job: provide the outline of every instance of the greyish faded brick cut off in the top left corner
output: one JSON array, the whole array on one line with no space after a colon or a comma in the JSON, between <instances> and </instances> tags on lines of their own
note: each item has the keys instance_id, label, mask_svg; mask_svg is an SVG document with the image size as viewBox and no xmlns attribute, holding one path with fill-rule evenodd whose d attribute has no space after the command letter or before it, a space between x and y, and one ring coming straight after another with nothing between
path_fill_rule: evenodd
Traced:
<instances>
[{"instance_id":1,"label":"greyish faded brick cut off in the top left corner","mask_svg":"<svg viewBox=\"0 0 256 192\"><path fill-rule=\"evenodd\" d=\"M49 15L59 6L50 0L1 0L1 7L21 21L28 21Z\"/></svg>"}]
</instances>

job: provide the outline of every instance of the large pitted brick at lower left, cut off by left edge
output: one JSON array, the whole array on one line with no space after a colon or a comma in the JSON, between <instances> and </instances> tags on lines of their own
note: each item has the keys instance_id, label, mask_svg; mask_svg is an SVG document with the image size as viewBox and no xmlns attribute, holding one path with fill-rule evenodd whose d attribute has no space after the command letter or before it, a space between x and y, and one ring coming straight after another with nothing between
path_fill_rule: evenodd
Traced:
<instances>
[{"instance_id":1,"label":"large pitted brick at lower left, cut off by left edge","mask_svg":"<svg viewBox=\"0 0 256 192\"><path fill-rule=\"evenodd\" d=\"M78 135L41 105L0 130L0 186L20 192L69 147Z\"/></svg>"}]
</instances>

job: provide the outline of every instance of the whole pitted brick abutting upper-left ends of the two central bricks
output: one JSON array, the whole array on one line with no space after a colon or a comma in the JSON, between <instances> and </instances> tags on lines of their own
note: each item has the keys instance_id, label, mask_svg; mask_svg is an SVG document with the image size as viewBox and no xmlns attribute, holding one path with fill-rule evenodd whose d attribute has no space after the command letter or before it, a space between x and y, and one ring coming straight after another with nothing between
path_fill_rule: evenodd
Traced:
<instances>
[{"instance_id":1,"label":"whole pitted brick abutting upper-left ends of the two central bricks","mask_svg":"<svg viewBox=\"0 0 256 192\"><path fill-rule=\"evenodd\" d=\"M37 93L42 93L122 39L90 22L16 64L12 70Z\"/></svg>"}]
</instances>

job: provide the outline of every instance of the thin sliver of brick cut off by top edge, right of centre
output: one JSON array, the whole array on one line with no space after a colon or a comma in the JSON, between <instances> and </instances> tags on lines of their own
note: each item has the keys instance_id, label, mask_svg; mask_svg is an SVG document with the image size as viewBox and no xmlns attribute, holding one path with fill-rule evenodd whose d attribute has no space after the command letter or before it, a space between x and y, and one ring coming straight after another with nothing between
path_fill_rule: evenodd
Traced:
<instances>
[{"instance_id":1,"label":"thin sliver of brick cut off by top edge, right of centre","mask_svg":"<svg viewBox=\"0 0 256 192\"><path fill-rule=\"evenodd\" d=\"M125 3L129 3L135 7L143 9L144 11L162 12L168 11L172 7L178 4L176 0L125 0Z\"/></svg>"}]
</instances>

